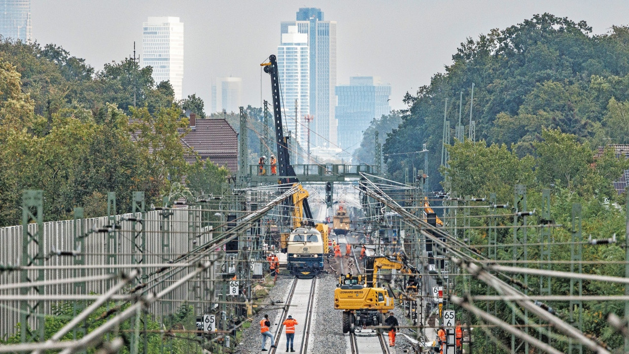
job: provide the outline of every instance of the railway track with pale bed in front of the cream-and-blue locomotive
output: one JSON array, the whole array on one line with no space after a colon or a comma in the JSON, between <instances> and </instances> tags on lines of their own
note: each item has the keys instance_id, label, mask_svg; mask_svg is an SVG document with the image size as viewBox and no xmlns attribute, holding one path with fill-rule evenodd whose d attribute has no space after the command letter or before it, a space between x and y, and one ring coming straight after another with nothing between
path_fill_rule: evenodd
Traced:
<instances>
[{"instance_id":1,"label":"railway track with pale bed in front of the cream-and-blue locomotive","mask_svg":"<svg viewBox=\"0 0 629 354\"><path fill-rule=\"evenodd\" d=\"M275 348L271 348L269 353L275 354L277 348L283 348L286 343L286 333L284 333L284 321L288 316L292 316L297 321L295 326L294 346L296 353L308 353L309 333L314 316L313 307L315 305L316 277L313 279L295 279L289 290L286 304L279 317L275 333Z\"/></svg>"}]
</instances>

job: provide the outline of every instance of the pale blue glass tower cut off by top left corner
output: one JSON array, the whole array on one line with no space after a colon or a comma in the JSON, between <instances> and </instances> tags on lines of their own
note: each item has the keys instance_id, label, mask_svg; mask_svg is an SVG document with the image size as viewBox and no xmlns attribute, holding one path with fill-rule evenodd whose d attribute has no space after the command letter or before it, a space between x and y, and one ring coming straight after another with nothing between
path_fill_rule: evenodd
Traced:
<instances>
[{"instance_id":1,"label":"pale blue glass tower cut off by top left corner","mask_svg":"<svg viewBox=\"0 0 629 354\"><path fill-rule=\"evenodd\" d=\"M31 40L31 0L0 0L0 35Z\"/></svg>"}]
</instances>

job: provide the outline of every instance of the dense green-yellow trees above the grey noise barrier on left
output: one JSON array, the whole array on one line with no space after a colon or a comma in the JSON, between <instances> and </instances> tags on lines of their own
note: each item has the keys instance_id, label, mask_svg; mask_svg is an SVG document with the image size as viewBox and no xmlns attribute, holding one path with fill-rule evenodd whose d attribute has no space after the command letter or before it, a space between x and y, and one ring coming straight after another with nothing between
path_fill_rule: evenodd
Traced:
<instances>
[{"instance_id":1,"label":"dense green-yellow trees above the grey noise barrier on left","mask_svg":"<svg viewBox=\"0 0 629 354\"><path fill-rule=\"evenodd\" d=\"M20 223L25 189L43 189L45 220L56 220L75 206L103 215L108 191L125 212L133 191L158 205L186 177L191 197L225 181L226 169L184 160L194 153L180 143L182 108L203 116L203 101L175 101L151 74L129 58L95 70L56 45L0 41L0 226Z\"/></svg>"}]
</instances>

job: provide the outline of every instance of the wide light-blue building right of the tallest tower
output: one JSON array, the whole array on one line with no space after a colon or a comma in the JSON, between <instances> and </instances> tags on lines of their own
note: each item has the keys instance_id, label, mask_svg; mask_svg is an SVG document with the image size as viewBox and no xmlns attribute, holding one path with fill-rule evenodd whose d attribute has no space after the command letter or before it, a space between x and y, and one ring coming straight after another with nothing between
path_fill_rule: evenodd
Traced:
<instances>
[{"instance_id":1,"label":"wide light-blue building right of the tallest tower","mask_svg":"<svg viewBox=\"0 0 629 354\"><path fill-rule=\"evenodd\" d=\"M349 85L337 86L335 93L338 145L352 153L360 147L362 132L369 128L369 123L391 111L391 86L381 84L372 76L355 76L350 77Z\"/></svg>"}]
</instances>

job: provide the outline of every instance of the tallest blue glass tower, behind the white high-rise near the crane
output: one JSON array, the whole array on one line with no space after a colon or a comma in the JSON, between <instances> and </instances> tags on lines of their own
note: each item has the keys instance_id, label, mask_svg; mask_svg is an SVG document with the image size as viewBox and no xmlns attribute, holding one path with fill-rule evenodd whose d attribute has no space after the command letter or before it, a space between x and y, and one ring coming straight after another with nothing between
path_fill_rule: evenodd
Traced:
<instances>
[{"instance_id":1,"label":"tallest blue glass tower, behind the white high-rise near the crane","mask_svg":"<svg viewBox=\"0 0 629 354\"><path fill-rule=\"evenodd\" d=\"M337 140L337 121L334 117L334 87L337 85L337 23L323 21L323 12L317 8L300 8L296 18L297 21L282 21L281 33L283 37L289 34L289 28L296 26L297 33L307 36L308 101L309 114L313 116L311 146L333 147ZM282 75L283 69L279 63L278 69ZM286 94L286 91L283 92ZM286 98L284 104L288 108L289 102ZM287 114L290 115L288 112ZM294 113L292 115L294 116ZM304 121L303 116L299 119Z\"/></svg>"}]
</instances>

